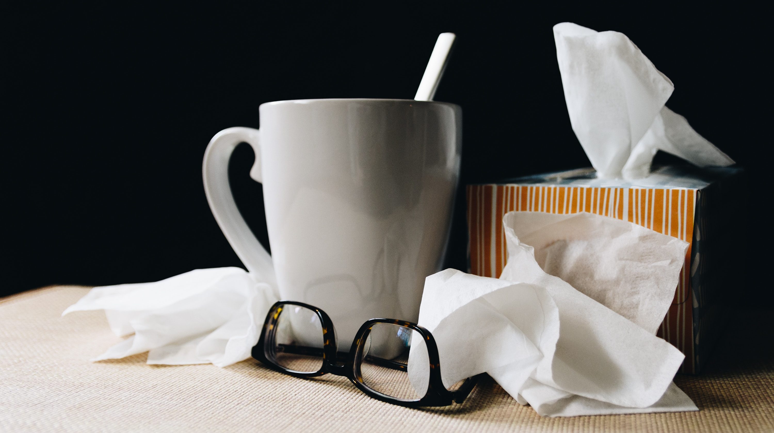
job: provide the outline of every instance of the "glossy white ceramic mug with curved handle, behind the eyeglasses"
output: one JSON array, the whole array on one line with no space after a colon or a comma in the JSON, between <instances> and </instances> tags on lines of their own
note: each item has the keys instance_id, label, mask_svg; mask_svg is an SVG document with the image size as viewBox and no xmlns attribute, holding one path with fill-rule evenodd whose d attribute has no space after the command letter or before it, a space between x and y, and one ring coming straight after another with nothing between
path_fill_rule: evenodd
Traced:
<instances>
[{"instance_id":1,"label":"glossy white ceramic mug with curved handle, behind the eyeglasses","mask_svg":"<svg viewBox=\"0 0 774 433\"><path fill-rule=\"evenodd\" d=\"M383 317L416 322L424 279L440 269L460 170L462 110L392 99L279 101L261 128L228 128L204 154L204 189L248 271L283 299L330 315L339 348ZM272 256L228 185L228 159L246 141L263 184ZM273 262L273 265L272 265Z\"/></svg>"}]
</instances>

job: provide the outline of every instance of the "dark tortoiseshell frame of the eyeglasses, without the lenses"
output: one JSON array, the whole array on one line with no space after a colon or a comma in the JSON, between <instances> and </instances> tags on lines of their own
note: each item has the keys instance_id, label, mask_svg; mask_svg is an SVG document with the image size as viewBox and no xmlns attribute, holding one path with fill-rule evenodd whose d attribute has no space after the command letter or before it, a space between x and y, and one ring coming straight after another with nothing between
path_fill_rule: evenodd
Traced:
<instances>
[{"instance_id":1,"label":"dark tortoiseshell frame of the eyeglasses, without the lenses","mask_svg":"<svg viewBox=\"0 0 774 433\"><path fill-rule=\"evenodd\" d=\"M286 369L285 367L280 366L276 360L270 359L270 354L272 351L269 350L267 344L270 344L273 347L276 323L279 319L279 313L282 312L285 305L297 305L306 309L310 309L313 312L316 312L317 316L320 318L320 323L323 326L324 339L323 364L322 367L320 367L320 370L317 370L313 373L302 373L299 371ZM361 366L358 360L361 359L361 353L365 346L365 342L368 339L368 335L371 333L372 327L377 323L389 323L391 325L404 326L408 329L418 332L424 339L424 342L427 346L427 355L430 358L430 381L427 385L427 391L422 398L416 400L404 400L397 397L391 397L389 395L382 394L377 390L371 389L363 382L363 377L360 371ZM341 365L337 363L337 358L341 358L341 356L339 353L337 353L338 346L336 341L336 332L334 329L334 323L330 320L330 317L323 310L318 309L313 305L295 301L276 302L274 305L272 305L272 308L269 309L269 314L266 315L258 344L252 348L252 357L255 358L255 360L259 360L267 367L270 367L273 370L277 370L281 373L289 374L290 376L317 377L327 373L343 376L348 378L355 387L358 387L359 390L365 392L365 394L368 394L370 397L380 401L385 401L387 403L399 404L401 406L407 407L448 406L452 404L453 401L462 403L465 398L471 394L471 390L473 390L473 387L475 387L475 384L478 381L478 377L480 377L480 375L468 377L464 380L463 384L457 388L457 390L447 390L446 387L444 387L444 383L440 377L438 346L436 345L435 339L433 338L433 334L431 334L427 329L424 329L422 326L417 325L416 323L396 319L371 319L363 323L360 329L358 329L358 333L354 336L354 341L352 342L349 353L345 355L346 358L344 360L344 364ZM267 356L267 353L269 353L269 356ZM390 361L385 362L390 363ZM393 365L390 366L392 368L399 370L406 369L405 365L399 363L392 364Z\"/></svg>"}]
</instances>

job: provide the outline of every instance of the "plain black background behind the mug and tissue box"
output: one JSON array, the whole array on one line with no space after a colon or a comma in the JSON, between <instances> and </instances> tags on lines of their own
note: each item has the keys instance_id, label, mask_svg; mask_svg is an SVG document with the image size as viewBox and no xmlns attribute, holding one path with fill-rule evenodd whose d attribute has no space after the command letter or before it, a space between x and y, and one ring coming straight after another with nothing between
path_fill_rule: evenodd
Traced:
<instances>
[{"instance_id":1,"label":"plain black background behind the mug and tissue box","mask_svg":"<svg viewBox=\"0 0 774 433\"><path fill-rule=\"evenodd\" d=\"M202 188L212 135L258 128L267 101L410 99L440 32L457 33L436 100L463 107L462 185L589 165L570 128L551 29L571 21L629 36L673 80L667 105L748 169L751 196L769 200L770 35L760 12L734 8L218 2L6 10L0 295L240 265ZM247 145L237 149L231 182L266 243L252 158ZM461 206L448 265L465 270ZM746 223L728 230L738 232L746 279L729 290L770 300L771 284L757 278L769 274L769 213L757 204L739 212Z\"/></svg>"}]
</instances>

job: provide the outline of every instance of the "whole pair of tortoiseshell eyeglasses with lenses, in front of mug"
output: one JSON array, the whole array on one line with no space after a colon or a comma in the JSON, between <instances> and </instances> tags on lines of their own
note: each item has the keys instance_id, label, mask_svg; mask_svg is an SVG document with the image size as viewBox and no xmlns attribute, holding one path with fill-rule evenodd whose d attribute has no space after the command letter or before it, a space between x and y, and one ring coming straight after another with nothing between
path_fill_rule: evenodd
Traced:
<instances>
[{"instance_id":1,"label":"whole pair of tortoiseshell eyeglasses with lenses, in front of mug","mask_svg":"<svg viewBox=\"0 0 774 433\"><path fill-rule=\"evenodd\" d=\"M377 400L409 407L462 403L478 380L468 377L444 387L433 334L412 322L368 320L349 353L338 352L330 317L293 301L279 301L269 309L252 357L295 377L344 376Z\"/></svg>"}]
</instances>

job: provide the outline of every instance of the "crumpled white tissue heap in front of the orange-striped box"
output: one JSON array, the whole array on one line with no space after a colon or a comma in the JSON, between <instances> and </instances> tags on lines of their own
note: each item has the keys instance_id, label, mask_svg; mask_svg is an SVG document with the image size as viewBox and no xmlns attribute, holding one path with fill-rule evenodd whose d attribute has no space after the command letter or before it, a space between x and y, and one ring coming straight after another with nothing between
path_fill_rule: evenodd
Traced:
<instances>
[{"instance_id":1,"label":"crumpled white tissue heap in front of the orange-striped box","mask_svg":"<svg viewBox=\"0 0 774 433\"><path fill-rule=\"evenodd\" d=\"M684 358L679 350L654 336L652 326L638 326L567 281L546 274L536 261L538 256L547 262L553 254L556 242L542 232L553 227L567 235L563 240L572 247L563 251L571 251L570 257L603 256L596 261L598 266L589 259L577 268L558 269L571 269L577 281L601 278L615 292L606 295L605 302L614 308L625 305L622 312L631 314L631 304L616 298L632 294L625 281L633 268L623 262L634 259L655 277L639 281L640 291L655 292L646 298L657 298L652 299L657 306L648 309L659 317L635 315L649 324L663 319L662 305L673 298L680 273L673 263L683 261L686 243L605 216L580 214L563 220L540 216L549 215L506 214L509 260L501 278L447 269L426 279L419 322L438 343L444 384L486 372L519 403L531 404L547 416L696 411L690 398L672 384ZM621 223L630 230L623 230ZM515 229L543 244L533 249L522 243ZM584 230L587 234L580 233ZM560 234L554 241L562 238ZM587 242L591 239L598 241ZM653 254L660 254L659 260L652 261ZM636 278L641 271L634 272ZM671 293L657 287L662 284L671 285ZM409 375L412 363L421 365L425 356L412 351ZM415 387L423 386L418 377L412 381Z\"/></svg>"}]
</instances>

